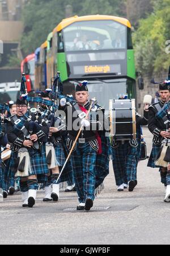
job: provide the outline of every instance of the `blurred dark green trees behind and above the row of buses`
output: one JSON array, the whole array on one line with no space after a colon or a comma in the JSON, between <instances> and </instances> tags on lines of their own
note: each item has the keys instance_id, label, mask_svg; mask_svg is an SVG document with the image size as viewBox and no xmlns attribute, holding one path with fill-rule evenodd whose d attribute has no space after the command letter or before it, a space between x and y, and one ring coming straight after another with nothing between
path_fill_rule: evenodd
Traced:
<instances>
[{"instance_id":1,"label":"blurred dark green trees behind and above the row of buses","mask_svg":"<svg viewBox=\"0 0 170 256\"><path fill-rule=\"evenodd\" d=\"M66 5L73 6L73 15L124 15L124 0L31 0L23 11L24 55L34 52L45 42L48 34L65 18ZM124 15L125 16L125 15Z\"/></svg>"}]
</instances>

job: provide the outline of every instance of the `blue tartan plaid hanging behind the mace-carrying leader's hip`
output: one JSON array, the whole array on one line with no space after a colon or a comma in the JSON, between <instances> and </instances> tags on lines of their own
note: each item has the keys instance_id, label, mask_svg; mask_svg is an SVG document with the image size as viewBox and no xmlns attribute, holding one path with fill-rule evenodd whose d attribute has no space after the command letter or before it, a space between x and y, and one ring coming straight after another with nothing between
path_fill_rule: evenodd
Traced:
<instances>
[{"instance_id":1,"label":"blue tartan plaid hanging behind the mace-carrying leader's hip","mask_svg":"<svg viewBox=\"0 0 170 256\"><path fill-rule=\"evenodd\" d=\"M99 187L103 183L105 177L109 174L109 158L111 152L111 143L108 137L105 137L104 134L100 134L101 138L101 148L102 153L97 155L96 166L95 166L95 175L96 175L96 184L95 188Z\"/></svg>"}]
</instances>

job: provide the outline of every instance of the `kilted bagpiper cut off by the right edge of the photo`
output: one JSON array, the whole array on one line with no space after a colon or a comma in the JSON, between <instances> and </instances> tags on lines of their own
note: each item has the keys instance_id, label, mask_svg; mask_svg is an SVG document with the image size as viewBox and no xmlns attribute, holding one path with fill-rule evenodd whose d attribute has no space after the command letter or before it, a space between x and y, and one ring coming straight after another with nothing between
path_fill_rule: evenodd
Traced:
<instances>
[{"instance_id":1,"label":"kilted bagpiper cut off by the right edge of the photo","mask_svg":"<svg viewBox=\"0 0 170 256\"><path fill-rule=\"evenodd\" d=\"M149 108L148 129L154 135L154 138L152 151L147 166L152 168L159 168L161 182L164 184L166 191L164 201L169 202L170 172L168 162L170 161L170 158L167 148L169 146L170 139L170 72L168 79L159 83L159 96L159 102L152 104Z\"/></svg>"}]
</instances>

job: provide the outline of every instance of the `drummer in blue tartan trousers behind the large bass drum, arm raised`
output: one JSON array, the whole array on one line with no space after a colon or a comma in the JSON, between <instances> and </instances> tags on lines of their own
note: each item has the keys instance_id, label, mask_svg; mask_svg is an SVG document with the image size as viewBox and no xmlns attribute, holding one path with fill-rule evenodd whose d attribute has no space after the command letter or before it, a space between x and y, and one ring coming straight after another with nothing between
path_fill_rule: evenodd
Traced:
<instances>
[{"instance_id":1,"label":"drummer in blue tartan trousers behind the large bass drum, arm raised","mask_svg":"<svg viewBox=\"0 0 170 256\"><path fill-rule=\"evenodd\" d=\"M124 97L124 99L126 99ZM136 113L137 139L119 140L115 138L112 141L113 170L116 180L117 191L124 191L129 188L133 191L137 185L137 152L139 139L141 140L141 125L147 125L148 105L144 106L143 118Z\"/></svg>"}]
</instances>

